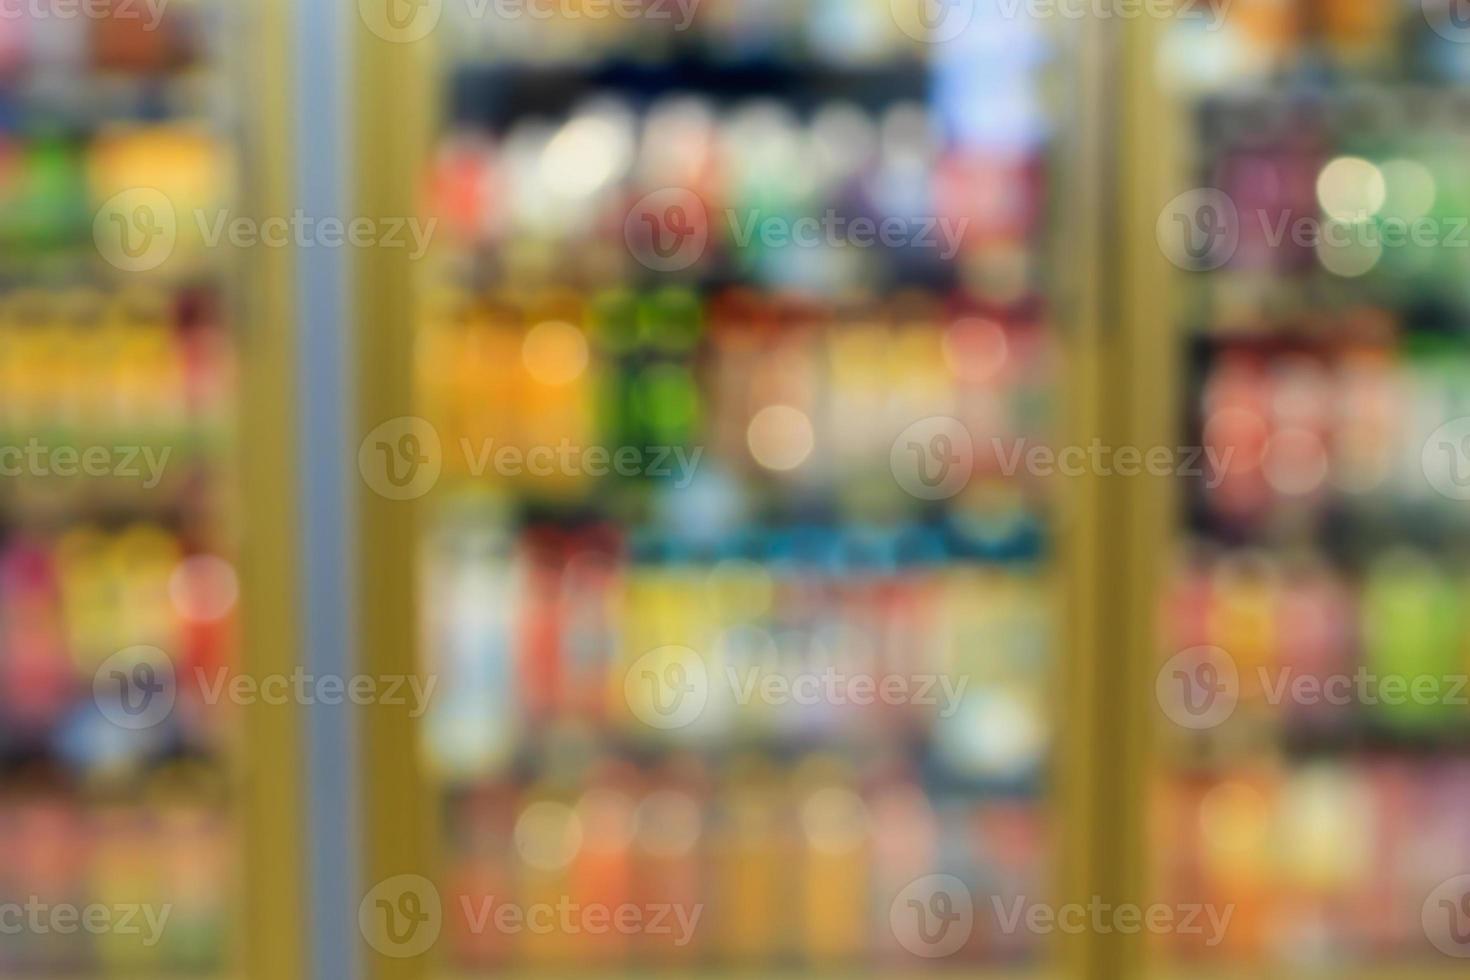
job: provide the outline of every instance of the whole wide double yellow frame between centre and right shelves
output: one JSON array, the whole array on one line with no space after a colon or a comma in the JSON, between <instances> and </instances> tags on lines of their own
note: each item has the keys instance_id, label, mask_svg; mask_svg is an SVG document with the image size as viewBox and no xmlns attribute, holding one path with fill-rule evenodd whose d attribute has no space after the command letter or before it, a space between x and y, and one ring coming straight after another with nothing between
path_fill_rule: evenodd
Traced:
<instances>
[{"instance_id":1,"label":"whole wide double yellow frame between centre and right shelves","mask_svg":"<svg viewBox=\"0 0 1470 980\"><path fill-rule=\"evenodd\" d=\"M1066 347L1064 439L1173 445L1179 354L1154 223L1173 128L1155 78L1157 18L1079 25L1072 148L1061 163L1053 262ZM1164 476L1086 473L1066 488L1058 696L1058 901L1148 904L1158 585L1173 527ZM1064 973L1133 980L1145 936L1063 940Z\"/></svg>"}]
</instances>

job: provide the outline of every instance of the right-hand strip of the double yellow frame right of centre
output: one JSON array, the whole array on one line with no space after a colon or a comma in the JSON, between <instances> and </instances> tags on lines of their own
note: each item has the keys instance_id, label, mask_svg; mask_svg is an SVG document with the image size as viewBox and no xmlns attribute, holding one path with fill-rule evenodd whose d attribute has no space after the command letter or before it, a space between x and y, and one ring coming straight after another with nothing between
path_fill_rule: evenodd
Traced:
<instances>
[{"instance_id":1,"label":"right-hand strip of the double yellow frame right of centre","mask_svg":"<svg viewBox=\"0 0 1470 980\"><path fill-rule=\"evenodd\" d=\"M1158 72L1158 50L1169 22L1160 18L1122 21L1117 91L1119 157L1116 194L1114 297L1107 314L1116 342L1102 376L1104 442L1144 453L1173 447L1182 430L1180 369L1183 351L1167 288L1175 269L1155 232L1160 190L1173 172L1177 126ZM1177 526L1177 479L1142 473L1113 476L1100 532L1098 588L1116 623L1104 633L1097 698L1105 705L1110 751L1117 763L1095 773L1094 785L1107 813L1097 855L1102 895L1147 908L1155 861L1151 849L1152 741L1160 718L1155 674L1160 651L1160 597L1173 560ZM1105 760L1100 760L1104 761ZM1098 936L1101 968L1111 977L1139 977L1148 965L1145 934Z\"/></svg>"}]
</instances>

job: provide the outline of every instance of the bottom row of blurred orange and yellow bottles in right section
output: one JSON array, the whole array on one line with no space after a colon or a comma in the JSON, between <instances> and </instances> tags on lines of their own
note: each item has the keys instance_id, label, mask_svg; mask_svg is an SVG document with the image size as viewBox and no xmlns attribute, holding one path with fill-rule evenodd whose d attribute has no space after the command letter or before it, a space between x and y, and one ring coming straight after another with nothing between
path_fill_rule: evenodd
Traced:
<instances>
[{"instance_id":1,"label":"bottom row of blurred orange and yellow bottles in right section","mask_svg":"<svg viewBox=\"0 0 1470 980\"><path fill-rule=\"evenodd\" d=\"M1392 971L1464 955L1463 761L1261 760L1179 777L1157 802L1166 893L1230 909L1211 946L1167 937L1185 962Z\"/></svg>"}]
</instances>

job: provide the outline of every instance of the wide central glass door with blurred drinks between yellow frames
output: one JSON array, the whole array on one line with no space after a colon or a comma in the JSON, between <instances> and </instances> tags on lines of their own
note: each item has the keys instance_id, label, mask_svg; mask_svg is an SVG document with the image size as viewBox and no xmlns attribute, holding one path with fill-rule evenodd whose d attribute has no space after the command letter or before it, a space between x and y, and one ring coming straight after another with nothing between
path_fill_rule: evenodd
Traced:
<instances>
[{"instance_id":1,"label":"wide central glass door with blurred drinks between yellow frames","mask_svg":"<svg viewBox=\"0 0 1470 980\"><path fill-rule=\"evenodd\" d=\"M437 691L438 857L365 882L378 962L1041 968L1064 25L363 16L438 51L440 120L416 408L359 455L422 517Z\"/></svg>"}]
</instances>

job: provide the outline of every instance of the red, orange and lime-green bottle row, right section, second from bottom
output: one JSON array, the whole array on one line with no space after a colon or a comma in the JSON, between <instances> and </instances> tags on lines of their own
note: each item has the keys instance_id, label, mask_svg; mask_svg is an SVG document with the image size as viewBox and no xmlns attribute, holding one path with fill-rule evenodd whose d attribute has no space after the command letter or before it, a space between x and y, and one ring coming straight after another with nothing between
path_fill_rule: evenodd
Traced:
<instances>
[{"instance_id":1,"label":"red, orange and lime-green bottle row, right section, second from bottom","mask_svg":"<svg viewBox=\"0 0 1470 980\"><path fill-rule=\"evenodd\" d=\"M1173 591L1170 641L1182 652L1166 671L1182 677L1161 677L1161 691L1214 676L1229 688L1220 689L1225 707L1238 701L1238 723L1279 733L1463 735L1466 588L1461 570L1407 548L1379 554L1358 573L1310 555L1201 554ZM1205 692L1188 685L1182 695L1205 704ZM1226 724L1230 714L1213 720Z\"/></svg>"}]
</instances>

